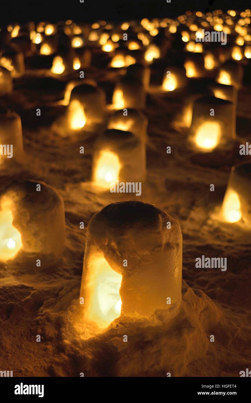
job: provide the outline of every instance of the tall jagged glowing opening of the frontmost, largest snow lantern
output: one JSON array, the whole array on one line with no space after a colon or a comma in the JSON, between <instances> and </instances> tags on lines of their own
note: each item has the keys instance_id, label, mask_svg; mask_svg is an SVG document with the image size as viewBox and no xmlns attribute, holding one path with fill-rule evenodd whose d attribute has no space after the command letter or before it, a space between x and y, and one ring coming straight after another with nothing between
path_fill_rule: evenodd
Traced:
<instances>
[{"instance_id":1,"label":"tall jagged glowing opening of the frontmost, largest snow lantern","mask_svg":"<svg viewBox=\"0 0 251 403\"><path fill-rule=\"evenodd\" d=\"M91 258L88 266L86 317L105 328L120 316L122 275L115 272L104 257Z\"/></svg>"}]
</instances>

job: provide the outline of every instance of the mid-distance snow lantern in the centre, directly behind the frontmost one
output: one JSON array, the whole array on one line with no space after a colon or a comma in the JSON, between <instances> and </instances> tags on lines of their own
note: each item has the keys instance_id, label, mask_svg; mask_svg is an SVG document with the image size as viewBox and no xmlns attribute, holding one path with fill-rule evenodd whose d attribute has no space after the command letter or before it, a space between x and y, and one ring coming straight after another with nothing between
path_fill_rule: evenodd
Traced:
<instances>
[{"instance_id":1,"label":"mid-distance snow lantern in the centre, directly behind the frontmost one","mask_svg":"<svg viewBox=\"0 0 251 403\"><path fill-rule=\"evenodd\" d=\"M106 130L95 142L92 181L110 188L112 182L141 182L146 177L146 145L129 131Z\"/></svg>"}]
</instances>

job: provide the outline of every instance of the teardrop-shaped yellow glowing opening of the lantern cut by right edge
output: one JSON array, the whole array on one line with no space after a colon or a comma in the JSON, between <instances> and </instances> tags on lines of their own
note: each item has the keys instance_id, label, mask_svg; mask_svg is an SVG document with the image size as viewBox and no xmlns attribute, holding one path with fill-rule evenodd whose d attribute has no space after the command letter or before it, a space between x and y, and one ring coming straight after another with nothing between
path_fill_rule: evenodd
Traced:
<instances>
[{"instance_id":1,"label":"teardrop-shaped yellow glowing opening of the lantern cut by right edge","mask_svg":"<svg viewBox=\"0 0 251 403\"><path fill-rule=\"evenodd\" d=\"M237 222L241 219L241 202L238 194L231 190L226 192L222 204L222 216L226 222Z\"/></svg>"}]
</instances>

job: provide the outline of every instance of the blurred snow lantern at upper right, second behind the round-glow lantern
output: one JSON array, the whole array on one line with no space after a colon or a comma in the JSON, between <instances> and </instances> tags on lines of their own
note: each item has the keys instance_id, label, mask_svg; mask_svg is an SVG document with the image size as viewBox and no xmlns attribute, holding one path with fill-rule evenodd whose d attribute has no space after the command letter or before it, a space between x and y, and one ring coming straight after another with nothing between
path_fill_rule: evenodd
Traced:
<instances>
[{"instance_id":1,"label":"blurred snow lantern at upper right, second behind the round-glow lantern","mask_svg":"<svg viewBox=\"0 0 251 403\"><path fill-rule=\"evenodd\" d=\"M225 85L233 85L239 89L242 85L243 67L234 60L228 60L221 64L217 82Z\"/></svg>"}]
</instances>

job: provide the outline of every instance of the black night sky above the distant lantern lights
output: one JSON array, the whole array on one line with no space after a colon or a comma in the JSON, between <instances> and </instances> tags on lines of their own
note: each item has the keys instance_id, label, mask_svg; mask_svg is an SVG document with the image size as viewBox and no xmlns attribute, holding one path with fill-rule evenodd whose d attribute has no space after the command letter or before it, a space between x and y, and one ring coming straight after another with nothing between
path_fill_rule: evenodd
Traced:
<instances>
[{"instance_id":1,"label":"black night sky above the distant lantern lights","mask_svg":"<svg viewBox=\"0 0 251 403\"><path fill-rule=\"evenodd\" d=\"M0 24L16 21L126 20L143 17L176 17L186 10L210 11L221 8L245 10L249 0L0 0Z\"/></svg>"}]
</instances>

